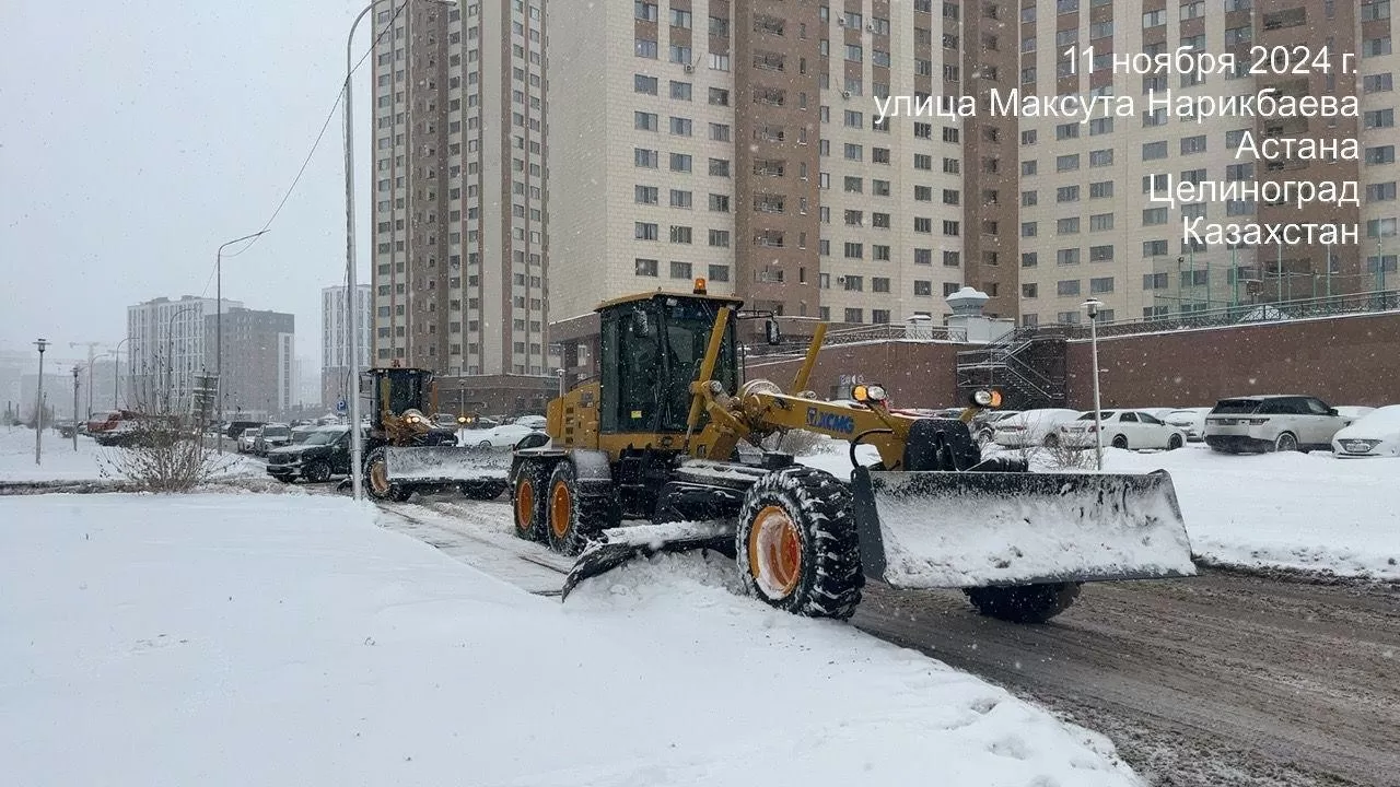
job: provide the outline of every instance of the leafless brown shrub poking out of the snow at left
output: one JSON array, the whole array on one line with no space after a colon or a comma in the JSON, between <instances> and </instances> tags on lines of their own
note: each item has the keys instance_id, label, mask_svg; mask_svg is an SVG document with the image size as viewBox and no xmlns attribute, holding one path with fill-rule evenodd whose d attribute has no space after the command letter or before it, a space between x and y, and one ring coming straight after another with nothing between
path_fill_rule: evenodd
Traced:
<instances>
[{"instance_id":1,"label":"leafless brown shrub poking out of the snow at left","mask_svg":"<svg viewBox=\"0 0 1400 787\"><path fill-rule=\"evenodd\" d=\"M120 440L98 459L104 478L126 479L139 492L190 492L232 466L179 419L123 422Z\"/></svg>"}]
</instances>

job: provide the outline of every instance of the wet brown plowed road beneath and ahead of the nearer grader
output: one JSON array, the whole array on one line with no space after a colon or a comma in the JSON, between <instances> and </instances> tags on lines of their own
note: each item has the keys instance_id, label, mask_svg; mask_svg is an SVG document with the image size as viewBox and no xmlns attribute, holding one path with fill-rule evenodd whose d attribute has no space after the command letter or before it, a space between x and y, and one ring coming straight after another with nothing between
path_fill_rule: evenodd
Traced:
<instances>
[{"instance_id":1,"label":"wet brown plowed road beneath and ahead of the nearer grader","mask_svg":"<svg viewBox=\"0 0 1400 787\"><path fill-rule=\"evenodd\" d=\"M385 508L386 527L532 592L567 566L511 536L501 503ZM867 585L853 623L1103 732L1158 787L1400 786L1396 587L1205 571L1088 584L1018 626L960 592Z\"/></svg>"}]
</instances>

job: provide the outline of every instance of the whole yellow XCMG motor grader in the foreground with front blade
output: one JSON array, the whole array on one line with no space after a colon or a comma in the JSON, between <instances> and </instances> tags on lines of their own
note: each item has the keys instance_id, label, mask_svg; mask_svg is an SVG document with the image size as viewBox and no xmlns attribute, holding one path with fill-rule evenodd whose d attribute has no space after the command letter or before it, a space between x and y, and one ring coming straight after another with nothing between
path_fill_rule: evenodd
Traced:
<instances>
[{"instance_id":1,"label":"whole yellow XCMG motor grader in the foreground with front blade","mask_svg":"<svg viewBox=\"0 0 1400 787\"><path fill-rule=\"evenodd\" d=\"M986 615L1040 622L1084 581L1194 574L1166 472L1032 473L983 458L967 423L995 392L960 419L893 413L878 385L857 389L858 406L823 401L806 385L825 325L787 391L741 382L741 305L700 280L598 307L599 378L550 402L549 443L517 447L512 468L517 535L577 556L566 598L686 549L732 556L776 608L839 619L867 578L962 588ZM762 451L792 429L848 441L850 480ZM741 443L760 458L739 461ZM857 461L862 443L878 462Z\"/></svg>"}]
</instances>

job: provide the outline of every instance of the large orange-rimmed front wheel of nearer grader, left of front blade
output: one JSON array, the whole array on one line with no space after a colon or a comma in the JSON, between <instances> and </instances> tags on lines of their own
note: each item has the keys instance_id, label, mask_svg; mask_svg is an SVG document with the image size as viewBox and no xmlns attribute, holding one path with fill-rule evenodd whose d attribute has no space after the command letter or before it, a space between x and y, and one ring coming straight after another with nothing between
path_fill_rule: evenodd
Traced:
<instances>
[{"instance_id":1,"label":"large orange-rimmed front wheel of nearer grader, left of front blade","mask_svg":"<svg viewBox=\"0 0 1400 787\"><path fill-rule=\"evenodd\" d=\"M861 601L851 494L822 471L784 468L749 487L735 552L749 592L777 609L846 619Z\"/></svg>"}]
</instances>

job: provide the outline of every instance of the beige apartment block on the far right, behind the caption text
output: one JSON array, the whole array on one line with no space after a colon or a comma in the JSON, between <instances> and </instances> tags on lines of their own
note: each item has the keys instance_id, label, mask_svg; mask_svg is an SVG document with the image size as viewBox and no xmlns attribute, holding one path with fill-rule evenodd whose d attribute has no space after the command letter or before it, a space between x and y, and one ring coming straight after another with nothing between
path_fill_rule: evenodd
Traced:
<instances>
[{"instance_id":1,"label":"beige apartment block on the far right, behind the caption text","mask_svg":"<svg viewBox=\"0 0 1400 787\"><path fill-rule=\"evenodd\" d=\"M1109 319L1141 319L1235 304L1355 293L1376 279L1375 242L1394 235L1396 132L1389 3L1326 0L1023 0L1019 88L1039 95L1133 97L1135 116L1095 113L1088 123L1021 119L1021 319L1078 322L1088 297ZM1141 6L1141 8L1138 7ZM1330 45L1331 74L1130 73L1112 53L1158 55L1179 46L1235 53L1245 70L1252 48ZM1068 73L1064 52L1093 46L1085 69ZM1340 53L1355 53L1355 74ZM1088 73L1085 73L1088 71ZM1148 91L1180 97L1242 97L1275 87L1291 95L1358 95L1359 118L1182 116L1149 109ZM1236 157L1245 133L1264 137L1359 140L1361 161L1256 161ZM1154 182L1357 181L1359 209L1249 200L1173 206L1154 200ZM1154 181L1155 179L1155 181ZM1187 242L1183 218L1219 223L1359 223L1348 246L1229 248ZM1366 241L1368 232L1371 239ZM1376 232L1385 237L1375 237ZM1394 241L1390 241L1393 245ZM1330 274L1327 255L1331 253ZM1394 266L1394 249L1389 266ZM1369 270L1369 274L1368 274Z\"/></svg>"}]
</instances>

